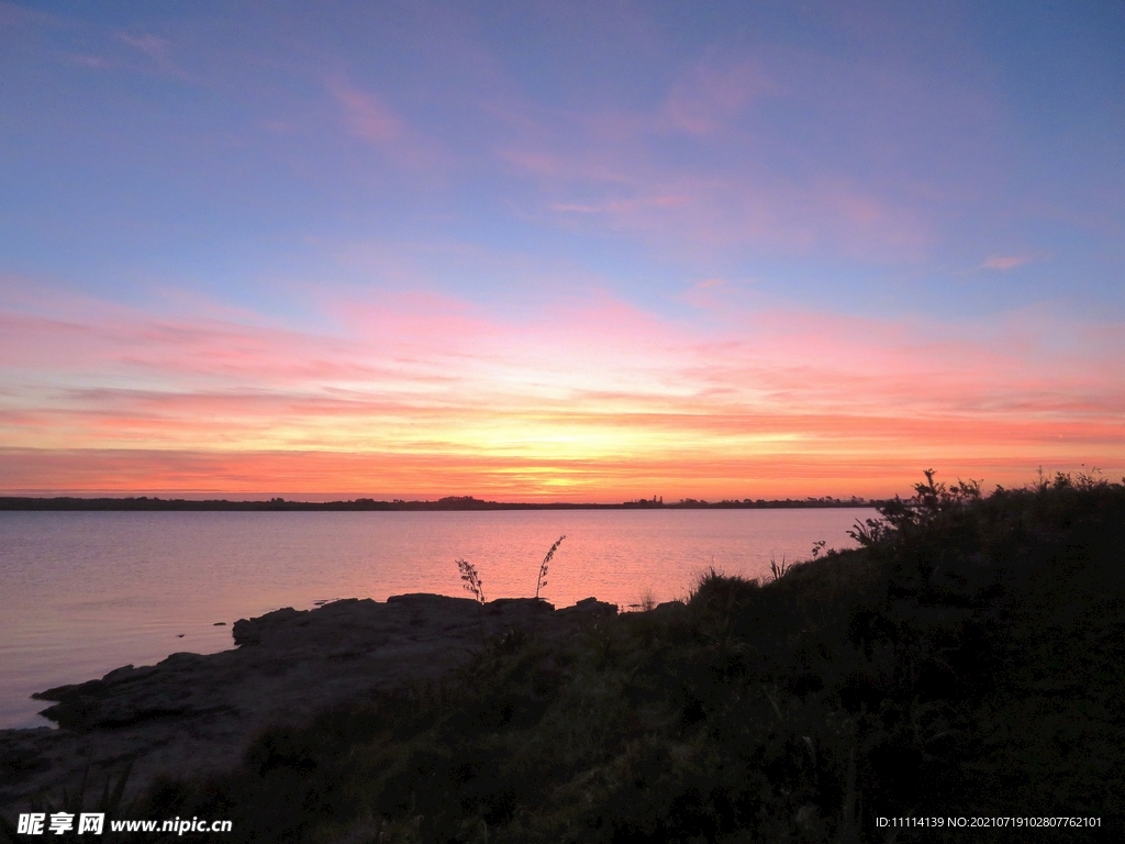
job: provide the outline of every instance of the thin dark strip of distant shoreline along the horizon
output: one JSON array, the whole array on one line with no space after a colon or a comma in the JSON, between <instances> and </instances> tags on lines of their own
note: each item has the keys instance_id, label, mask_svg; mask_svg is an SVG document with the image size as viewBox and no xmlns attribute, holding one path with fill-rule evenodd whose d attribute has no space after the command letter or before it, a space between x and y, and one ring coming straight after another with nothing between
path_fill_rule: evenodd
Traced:
<instances>
[{"instance_id":1,"label":"thin dark strip of distant shoreline along the horizon","mask_svg":"<svg viewBox=\"0 0 1125 844\"><path fill-rule=\"evenodd\" d=\"M726 500L700 501L683 499L665 503L663 500L626 501L620 504L579 504L569 502L501 502L483 501L471 495L448 496L438 501L376 501L375 499L353 499L350 501L286 501L270 499L269 501L227 501L209 499L194 501L189 499L161 497L97 497L78 496L32 497L0 496L0 512L4 511L235 511L235 512L410 512L410 511L477 511L477 510L806 510L813 508L874 508L881 504L879 500L868 499L783 499L783 500Z\"/></svg>"}]
</instances>

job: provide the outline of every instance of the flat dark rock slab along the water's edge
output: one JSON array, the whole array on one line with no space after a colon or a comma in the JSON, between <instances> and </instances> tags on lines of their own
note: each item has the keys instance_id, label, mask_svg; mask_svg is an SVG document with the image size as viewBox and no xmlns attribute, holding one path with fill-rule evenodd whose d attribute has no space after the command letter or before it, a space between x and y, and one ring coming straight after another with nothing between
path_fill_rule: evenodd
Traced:
<instances>
[{"instance_id":1,"label":"flat dark rock slab along the water's edge","mask_svg":"<svg viewBox=\"0 0 1125 844\"><path fill-rule=\"evenodd\" d=\"M130 760L134 794L162 774L230 770L266 727L302 724L372 690L436 680L467 664L485 636L522 629L560 639L615 613L592 598L556 611L533 599L482 608L470 599L410 594L242 619L233 650L172 654L36 694L55 701L43 715L60 728L0 730L0 808L25 808L38 794L57 802L88 766L89 790L98 794Z\"/></svg>"}]
</instances>

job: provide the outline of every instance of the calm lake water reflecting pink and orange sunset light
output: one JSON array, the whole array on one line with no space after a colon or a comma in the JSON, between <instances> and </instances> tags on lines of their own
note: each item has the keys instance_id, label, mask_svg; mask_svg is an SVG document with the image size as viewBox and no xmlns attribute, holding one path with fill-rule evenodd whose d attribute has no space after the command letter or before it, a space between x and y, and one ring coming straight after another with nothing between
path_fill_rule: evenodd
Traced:
<instances>
[{"instance_id":1,"label":"calm lake water reflecting pink and orange sunset light","mask_svg":"<svg viewBox=\"0 0 1125 844\"><path fill-rule=\"evenodd\" d=\"M706 566L767 576L812 544L850 547L870 510L516 511L452 513L0 513L0 727L48 724L29 694L233 647L231 625L280 607L405 592L542 595L622 608L687 592ZM217 627L216 622L226 622Z\"/></svg>"}]
</instances>

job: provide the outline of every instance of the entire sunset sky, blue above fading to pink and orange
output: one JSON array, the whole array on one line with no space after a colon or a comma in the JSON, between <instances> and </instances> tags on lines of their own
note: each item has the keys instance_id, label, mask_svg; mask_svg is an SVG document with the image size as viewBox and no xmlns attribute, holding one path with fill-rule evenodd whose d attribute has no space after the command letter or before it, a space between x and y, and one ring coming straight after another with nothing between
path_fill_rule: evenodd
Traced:
<instances>
[{"instance_id":1,"label":"entire sunset sky, blue above fading to pink and orange","mask_svg":"<svg viewBox=\"0 0 1125 844\"><path fill-rule=\"evenodd\" d=\"M1125 473L1119 2L0 0L0 494Z\"/></svg>"}]
</instances>

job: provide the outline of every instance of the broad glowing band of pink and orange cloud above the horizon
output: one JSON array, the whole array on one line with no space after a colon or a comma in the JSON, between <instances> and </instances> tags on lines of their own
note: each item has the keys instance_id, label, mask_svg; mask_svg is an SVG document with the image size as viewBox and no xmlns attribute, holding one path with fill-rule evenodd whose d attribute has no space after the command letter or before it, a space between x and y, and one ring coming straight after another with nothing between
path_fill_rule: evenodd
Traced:
<instances>
[{"instance_id":1,"label":"broad glowing band of pink and orange cloud above the horizon","mask_svg":"<svg viewBox=\"0 0 1125 844\"><path fill-rule=\"evenodd\" d=\"M1125 466L1125 331L1042 313L702 329L596 296L513 318L380 295L321 303L314 333L40 305L0 314L8 491L883 495L928 466Z\"/></svg>"}]
</instances>

